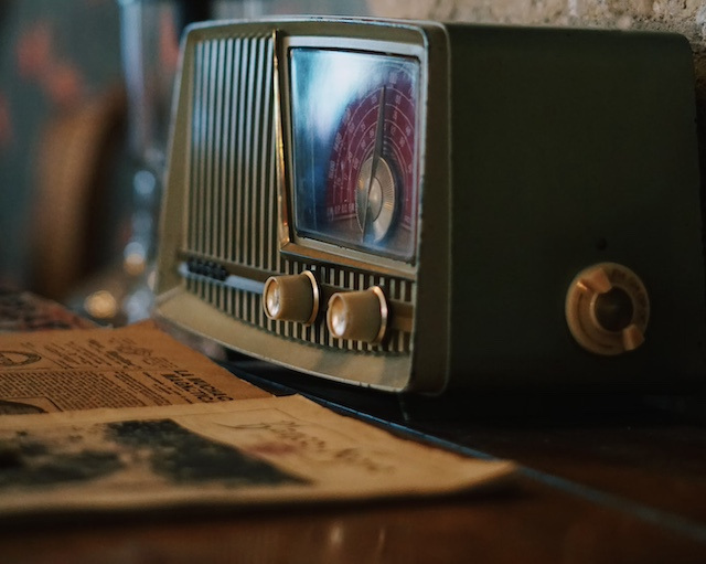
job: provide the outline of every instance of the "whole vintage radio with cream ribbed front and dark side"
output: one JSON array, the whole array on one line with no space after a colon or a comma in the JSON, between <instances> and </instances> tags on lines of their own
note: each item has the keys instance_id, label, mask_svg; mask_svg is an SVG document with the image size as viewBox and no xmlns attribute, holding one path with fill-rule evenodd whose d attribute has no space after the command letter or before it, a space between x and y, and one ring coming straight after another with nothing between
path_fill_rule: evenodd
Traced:
<instances>
[{"instance_id":1,"label":"whole vintage radio with cream ribbed front and dark side","mask_svg":"<svg viewBox=\"0 0 706 564\"><path fill-rule=\"evenodd\" d=\"M162 318L389 391L703 381L684 38L314 18L182 49Z\"/></svg>"}]
</instances>

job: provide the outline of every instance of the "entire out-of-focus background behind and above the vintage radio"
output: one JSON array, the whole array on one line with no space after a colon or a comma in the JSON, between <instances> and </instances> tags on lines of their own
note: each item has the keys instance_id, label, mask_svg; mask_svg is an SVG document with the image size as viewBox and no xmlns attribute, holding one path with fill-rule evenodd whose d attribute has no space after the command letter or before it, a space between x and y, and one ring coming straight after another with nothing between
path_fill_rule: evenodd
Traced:
<instances>
[{"instance_id":1,"label":"entire out-of-focus background behind and above the vintage radio","mask_svg":"<svg viewBox=\"0 0 706 564\"><path fill-rule=\"evenodd\" d=\"M677 31L705 137L700 0L0 0L0 288L146 317L181 31L276 14Z\"/></svg>"}]
</instances>

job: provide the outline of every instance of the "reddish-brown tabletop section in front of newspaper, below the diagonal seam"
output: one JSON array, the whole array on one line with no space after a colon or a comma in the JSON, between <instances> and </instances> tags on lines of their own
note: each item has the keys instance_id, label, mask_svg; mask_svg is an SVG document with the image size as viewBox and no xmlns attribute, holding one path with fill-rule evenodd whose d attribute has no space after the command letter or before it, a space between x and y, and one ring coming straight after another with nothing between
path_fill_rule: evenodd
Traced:
<instances>
[{"instance_id":1,"label":"reddish-brown tabletop section in front of newspaper, below the diagonal seam","mask_svg":"<svg viewBox=\"0 0 706 564\"><path fill-rule=\"evenodd\" d=\"M704 539L522 479L450 500L6 530L7 563L703 563Z\"/></svg>"}]
</instances>

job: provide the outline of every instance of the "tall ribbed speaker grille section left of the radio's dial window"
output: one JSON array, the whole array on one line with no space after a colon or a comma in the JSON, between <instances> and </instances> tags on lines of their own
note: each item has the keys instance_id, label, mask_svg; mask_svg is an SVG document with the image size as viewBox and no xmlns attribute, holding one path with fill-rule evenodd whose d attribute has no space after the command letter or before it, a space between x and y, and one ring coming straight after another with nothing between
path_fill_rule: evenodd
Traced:
<instances>
[{"instance_id":1,"label":"tall ribbed speaker grille section left of the radio's dial window","mask_svg":"<svg viewBox=\"0 0 706 564\"><path fill-rule=\"evenodd\" d=\"M278 269L272 40L197 43L189 251Z\"/></svg>"}]
</instances>

